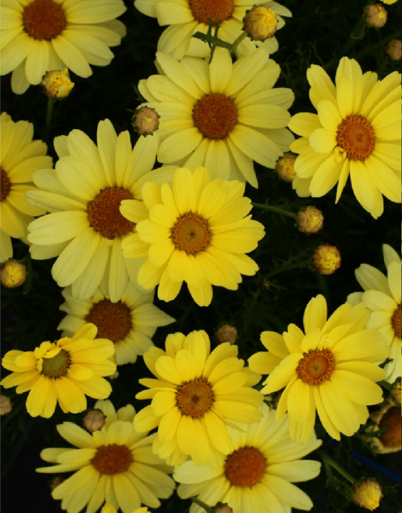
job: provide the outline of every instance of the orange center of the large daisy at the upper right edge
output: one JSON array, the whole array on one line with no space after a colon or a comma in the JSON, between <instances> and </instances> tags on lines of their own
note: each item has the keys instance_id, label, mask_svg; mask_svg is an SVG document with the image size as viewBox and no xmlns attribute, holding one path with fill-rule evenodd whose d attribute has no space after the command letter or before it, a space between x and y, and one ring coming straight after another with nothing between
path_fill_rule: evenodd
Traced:
<instances>
[{"instance_id":1,"label":"orange center of the large daisy at the upper right edge","mask_svg":"<svg viewBox=\"0 0 402 513\"><path fill-rule=\"evenodd\" d=\"M336 131L336 144L349 160L364 161L375 148L374 128L364 116L346 116Z\"/></svg>"}]
</instances>

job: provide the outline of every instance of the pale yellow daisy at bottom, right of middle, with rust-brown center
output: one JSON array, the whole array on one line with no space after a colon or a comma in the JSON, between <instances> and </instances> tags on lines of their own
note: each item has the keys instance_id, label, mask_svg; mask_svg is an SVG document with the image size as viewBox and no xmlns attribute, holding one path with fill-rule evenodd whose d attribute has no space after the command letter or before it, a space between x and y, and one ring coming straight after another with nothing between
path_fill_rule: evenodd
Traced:
<instances>
[{"instance_id":1,"label":"pale yellow daisy at bottom, right of middle, with rust-brown center","mask_svg":"<svg viewBox=\"0 0 402 513\"><path fill-rule=\"evenodd\" d=\"M177 488L180 498L196 496L210 506L220 501L242 513L290 513L292 507L313 507L310 497L291 483L318 476L321 463L300 458L322 441L317 440L313 431L306 444L293 442L288 415L275 422L274 410L265 403L259 409L263 418L258 423L234 422L241 431L228 427L234 450L220 458L216 466L198 467L193 461L186 461L175 468L173 478L182 483ZM190 507L190 513L204 511L194 503Z\"/></svg>"}]
</instances>

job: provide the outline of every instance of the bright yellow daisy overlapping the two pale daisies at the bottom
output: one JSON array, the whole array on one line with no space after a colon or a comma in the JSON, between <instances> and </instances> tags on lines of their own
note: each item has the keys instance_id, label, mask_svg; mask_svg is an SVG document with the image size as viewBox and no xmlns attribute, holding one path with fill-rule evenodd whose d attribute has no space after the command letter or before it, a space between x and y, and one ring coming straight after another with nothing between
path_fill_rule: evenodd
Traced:
<instances>
[{"instance_id":1,"label":"bright yellow daisy overlapping the two pale daisies at the bottom","mask_svg":"<svg viewBox=\"0 0 402 513\"><path fill-rule=\"evenodd\" d=\"M144 362L157 379L144 378L149 387L136 399L152 399L134 419L137 431L158 427L153 451L170 465L190 456L196 465L215 465L219 456L232 452L228 421L252 424L263 396L251 388L260 374L244 368L237 346L224 342L210 353L205 331L172 333L166 351L151 347Z\"/></svg>"}]
</instances>

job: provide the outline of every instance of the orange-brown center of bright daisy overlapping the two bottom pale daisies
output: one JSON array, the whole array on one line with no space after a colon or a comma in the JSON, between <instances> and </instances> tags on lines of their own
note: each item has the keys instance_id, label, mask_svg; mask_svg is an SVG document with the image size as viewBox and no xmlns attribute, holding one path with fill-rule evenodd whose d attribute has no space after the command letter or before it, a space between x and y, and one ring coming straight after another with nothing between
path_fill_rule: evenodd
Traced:
<instances>
[{"instance_id":1,"label":"orange-brown center of bright daisy overlapping the two bottom pale daisies","mask_svg":"<svg viewBox=\"0 0 402 513\"><path fill-rule=\"evenodd\" d=\"M205 378L185 381L177 387L176 406L193 419L204 417L214 401L212 385Z\"/></svg>"}]
</instances>

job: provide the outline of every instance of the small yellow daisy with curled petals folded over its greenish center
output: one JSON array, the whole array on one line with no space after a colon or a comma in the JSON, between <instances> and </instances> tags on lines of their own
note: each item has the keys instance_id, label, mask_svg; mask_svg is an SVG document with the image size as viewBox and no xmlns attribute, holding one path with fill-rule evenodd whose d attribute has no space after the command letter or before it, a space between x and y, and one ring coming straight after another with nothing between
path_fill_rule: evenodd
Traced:
<instances>
[{"instance_id":1,"label":"small yellow daisy with curled petals folded over its greenish center","mask_svg":"<svg viewBox=\"0 0 402 513\"><path fill-rule=\"evenodd\" d=\"M33 351L8 351L2 365L12 374L0 384L5 388L17 385L16 392L30 390L27 411L32 417L49 418L56 403L64 413L78 413L87 407L86 395L107 398L112 387L102 376L110 376L116 364L109 360L114 353L110 340L95 339L97 328L85 324L71 338L42 342Z\"/></svg>"}]
</instances>

